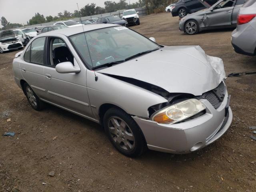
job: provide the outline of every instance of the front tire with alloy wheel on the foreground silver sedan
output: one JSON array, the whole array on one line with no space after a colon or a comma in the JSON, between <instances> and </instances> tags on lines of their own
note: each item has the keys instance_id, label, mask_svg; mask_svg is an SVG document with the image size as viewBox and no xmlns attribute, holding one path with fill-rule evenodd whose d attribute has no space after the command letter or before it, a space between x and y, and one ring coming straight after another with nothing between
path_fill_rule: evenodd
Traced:
<instances>
[{"instance_id":1,"label":"front tire with alloy wheel on the foreground silver sedan","mask_svg":"<svg viewBox=\"0 0 256 192\"><path fill-rule=\"evenodd\" d=\"M146 142L139 126L120 108L110 108L104 114L103 124L110 142L120 153L136 157L146 150Z\"/></svg>"}]
</instances>

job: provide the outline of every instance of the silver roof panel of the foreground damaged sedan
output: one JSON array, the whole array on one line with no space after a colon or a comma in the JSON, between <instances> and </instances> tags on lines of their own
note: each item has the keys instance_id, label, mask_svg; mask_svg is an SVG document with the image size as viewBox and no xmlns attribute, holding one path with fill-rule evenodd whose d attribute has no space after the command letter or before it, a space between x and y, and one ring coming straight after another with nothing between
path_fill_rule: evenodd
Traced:
<instances>
[{"instance_id":1,"label":"silver roof panel of the foreground damaged sedan","mask_svg":"<svg viewBox=\"0 0 256 192\"><path fill-rule=\"evenodd\" d=\"M58 29L58 30L53 30L50 32L42 33L40 35L37 35L38 37L40 36L54 36L58 34L62 34L65 36L71 36L74 34L82 33L83 31L88 32L88 31L93 31L97 29L102 29L102 28L108 28L108 27L114 27L114 26L120 26L116 24L90 24L84 26L77 26L77 27L70 27L70 28L64 28L64 29Z\"/></svg>"}]
</instances>

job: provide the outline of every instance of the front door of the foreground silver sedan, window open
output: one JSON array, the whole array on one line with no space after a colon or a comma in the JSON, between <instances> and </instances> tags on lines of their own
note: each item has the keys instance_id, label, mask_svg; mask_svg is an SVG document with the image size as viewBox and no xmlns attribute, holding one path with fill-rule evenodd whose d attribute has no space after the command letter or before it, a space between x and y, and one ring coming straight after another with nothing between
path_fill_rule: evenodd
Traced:
<instances>
[{"instance_id":1,"label":"front door of the foreground silver sedan, window open","mask_svg":"<svg viewBox=\"0 0 256 192\"><path fill-rule=\"evenodd\" d=\"M47 100L72 112L93 118L86 87L85 66L78 64L74 54L60 38L49 37L47 52L48 65L44 67ZM81 71L79 73L58 73L55 66L61 62L71 62Z\"/></svg>"}]
</instances>

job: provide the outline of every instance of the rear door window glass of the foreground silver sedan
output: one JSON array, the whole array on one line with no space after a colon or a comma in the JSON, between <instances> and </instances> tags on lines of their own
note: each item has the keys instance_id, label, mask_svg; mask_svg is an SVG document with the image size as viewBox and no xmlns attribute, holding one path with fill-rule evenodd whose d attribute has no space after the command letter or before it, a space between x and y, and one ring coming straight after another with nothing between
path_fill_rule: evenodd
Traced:
<instances>
[{"instance_id":1,"label":"rear door window glass of the foreground silver sedan","mask_svg":"<svg viewBox=\"0 0 256 192\"><path fill-rule=\"evenodd\" d=\"M44 64L44 42L45 37L35 39L31 44L30 62L35 64Z\"/></svg>"}]
</instances>

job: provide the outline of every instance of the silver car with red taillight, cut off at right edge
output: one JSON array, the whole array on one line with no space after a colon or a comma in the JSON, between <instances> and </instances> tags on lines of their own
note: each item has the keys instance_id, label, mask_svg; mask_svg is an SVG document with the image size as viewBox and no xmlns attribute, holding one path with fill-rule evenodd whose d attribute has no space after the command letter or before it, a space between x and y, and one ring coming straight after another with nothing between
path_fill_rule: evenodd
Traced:
<instances>
[{"instance_id":1,"label":"silver car with red taillight, cut off at right edge","mask_svg":"<svg viewBox=\"0 0 256 192\"><path fill-rule=\"evenodd\" d=\"M237 28L232 32L232 45L237 53L256 55L256 1L248 0L238 15Z\"/></svg>"}]
</instances>

